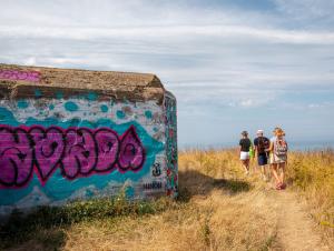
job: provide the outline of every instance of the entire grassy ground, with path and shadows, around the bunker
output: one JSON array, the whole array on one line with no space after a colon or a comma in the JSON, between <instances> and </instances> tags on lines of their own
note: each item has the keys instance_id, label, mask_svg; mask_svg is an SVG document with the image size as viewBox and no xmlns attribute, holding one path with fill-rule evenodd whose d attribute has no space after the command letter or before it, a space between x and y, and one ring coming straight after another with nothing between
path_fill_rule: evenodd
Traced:
<instances>
[{"instance_id":1,"label":"entire grassy ground, with path and shadows, around the bunker","mask_svg":"<svg viewBox=\"0 0 334 251\"><path fill-rule=\"evenodd\" d=\"M177 201L127 202L120 194L41 209L39 217L13 218L3 227L0 248L325 250L320 247L325 243L334 249L334 152L292 152L286 191L271 189L254 165L245 177L235 149L180 152ZM296 231L302 235L291 234Z\"/></svg>"}]
</instances>

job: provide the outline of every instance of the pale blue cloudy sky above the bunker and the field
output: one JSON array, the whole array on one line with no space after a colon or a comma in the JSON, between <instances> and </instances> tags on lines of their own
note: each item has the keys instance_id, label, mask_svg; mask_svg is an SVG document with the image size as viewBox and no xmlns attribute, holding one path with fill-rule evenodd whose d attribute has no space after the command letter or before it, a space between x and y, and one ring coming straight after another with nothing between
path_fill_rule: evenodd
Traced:
<instances>
[{"instance_id":1,"label":"pale blue cloudy sky above the bunker and the field","mask_svg":"<svg viewBox=\"0 0 334 251\"><path fill-rule=\"evenodd\" d=\"M334 142L334 1L0 3L0 62L155 73L177 98L180 148L276 126Z\"/></svg>"}]
</instances>

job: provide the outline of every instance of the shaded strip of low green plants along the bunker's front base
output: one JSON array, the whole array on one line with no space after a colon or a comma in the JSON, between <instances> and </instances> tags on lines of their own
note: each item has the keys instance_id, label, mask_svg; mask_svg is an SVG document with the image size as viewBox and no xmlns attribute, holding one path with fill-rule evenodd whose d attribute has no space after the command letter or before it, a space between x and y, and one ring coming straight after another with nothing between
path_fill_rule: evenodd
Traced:
<instances>
[{"instance_id":1,"label":"shaded strip of low green plants along the bunker's front base","mask_svg":"<svg viewBox=\"0 0 334 251\"><path fill-rule=\"evenodd\" d=\"M73 223L155 214L174 204L168 198L129 201L120 192L116 197L73 201L63 207L39 207L26 215L14 211L7 222L0 221L0 250L60 250Z\"/></svg>"}]
</instances>

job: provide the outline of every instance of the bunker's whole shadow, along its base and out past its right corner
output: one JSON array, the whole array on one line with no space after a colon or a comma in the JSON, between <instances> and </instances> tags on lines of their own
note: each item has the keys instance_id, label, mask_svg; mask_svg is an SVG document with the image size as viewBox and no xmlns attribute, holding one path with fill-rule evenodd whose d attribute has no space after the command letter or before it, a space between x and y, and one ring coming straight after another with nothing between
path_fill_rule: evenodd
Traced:
<instances>
[{"instance_id":1,"label":"bunker's whole shadow, along its base and out past its right corner","mask_svg":"<svg viewBox=\"0 0 334 251\"><path fill-rule=\"evenodd\" d=\"M243 180L215 179L195 170L179 172L178 201L181 203L186 203L194 195L208 195L216 189L233 195L249 191L252 185ZM0 250L61 250L67 242L66 231L72 223L110 217L159 213L173 207L174 202L168 201L170 200L131 203L125 198L115 198L77 202L70 207L41 207L28 215L13 213L6 224L0 222Z\"/></svg>"}]
</instances>

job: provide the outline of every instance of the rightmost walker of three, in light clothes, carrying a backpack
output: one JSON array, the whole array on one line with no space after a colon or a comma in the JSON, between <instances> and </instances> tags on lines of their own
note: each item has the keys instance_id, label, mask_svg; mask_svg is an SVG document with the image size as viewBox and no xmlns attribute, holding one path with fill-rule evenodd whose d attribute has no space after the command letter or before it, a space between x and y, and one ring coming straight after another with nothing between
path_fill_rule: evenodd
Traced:
<instances>
[{"instance_id":1,"label":"rightmost walker of three, in light clothes, carrying a backpack","mask_svg":"<svg viewBox=\"0 0 334 251\"><path fill-rule=\"evenodd\" d=\"M276 180L276 189L285 189L284 172L287 162L287 142L285 132L281 128L274 130L275 137L271 139L271 165L272 172Z\"/></svg>"}]
</instances>

